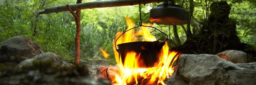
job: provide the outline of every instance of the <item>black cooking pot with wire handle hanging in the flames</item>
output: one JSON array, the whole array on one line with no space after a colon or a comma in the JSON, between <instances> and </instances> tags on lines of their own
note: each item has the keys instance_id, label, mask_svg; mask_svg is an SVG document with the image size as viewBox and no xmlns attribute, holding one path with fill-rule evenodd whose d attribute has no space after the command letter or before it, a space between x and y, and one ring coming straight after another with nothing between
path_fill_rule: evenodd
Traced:
<instances>
[{"instance_id":1,"label":"black cooking pot with wire handle hanging in the flames","mask_svg":"<svg viewBox=\"0 0 256 85\"><path fill-rule=\"evenodd\" d=\"M137 27L139 27L139 26L137 26ZM137 27L135 27L135 28L137 28ZM145 27L151 27L151 26L145 26ZM154 27L151 27L151 28L154 28ZM134 29L134 28L131 28L131 29ZM131 29L129 29L129 30L131 30ZM157 28L155 28L155 29L157 29ZM129 30L127 30L127 31L129 31ZM125 32L127 32L127 31L125 31ZM160 31L160 30L158 30L158 31ZM162 31L160 31L160 32L162 32ZM122 33L122 34L124 34L124 33ZM121 37L122 34L119 37ZM165 34L165 33L163 33L163 34ZM167 34L165 34L165 35L167 36L166 40L168 40L168 35ZM116 41L119 39L119 37L116 39ZM136 52L136 54L140 54L140 56L139 56L140 57L139 58L140 65L138 66L139 68L153 67L154 63L158 63L160 51L161 51L163 45L165 44L166 40L164 42L160 42L160 39L159 39L159 40L153 41L153 42L140 41L140 42L122 43L122 44L117 45L118 49L116 48L116 51L119 53L119 58L121 56L121 60L122 60L123 64L125 61L125 55L128 52L134 51L134 52ZM115 46L116 46L116 42L115 42Z\"/></svg>"}]
</instances>

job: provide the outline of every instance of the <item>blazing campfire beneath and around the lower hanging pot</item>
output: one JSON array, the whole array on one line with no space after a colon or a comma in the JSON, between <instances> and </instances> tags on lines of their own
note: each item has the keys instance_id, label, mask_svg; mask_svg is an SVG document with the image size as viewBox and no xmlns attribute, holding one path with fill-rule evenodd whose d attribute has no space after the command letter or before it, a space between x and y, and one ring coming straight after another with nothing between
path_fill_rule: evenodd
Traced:
<instances>
[{"instance_id":1,"label":"blazing campfire beneath and around the lower hanging pot","mask_svg":"<svg viewBox=\"0 0 256 85\"><path fill-rule=\"evenodd\" d=\"M125 19L128 24L126 30L134 28L134 22L129 17L125 17ZM152 26L152 24L143 23L143 26ZM113 85L165 85L163 81L172 76L175 69L177 69L177 66L173 67L173 65L180 54L175 51L169 51L167 42L163 42L163 47L160 48L157 55L154 55L156 57L153 57L153 60L145 60L152 57L143 58L142 55L148 55L141 52L127 50L122 54L124 55L122 57L116 51L115 46L119 46L122 43L138 42L140 40L143 42L158 42L156 37L151 35L151 31L143 26L137 31L134 29L127 31L122 36L122 31L116 33L116 39L113 41L113 49L118 71L115 71L116 73L114 75L107 73L108 76L111 76L109 78ZM119 40L117 40L118 37ZM147 49L145 47L139 48L143 50Z\"/></svg>"}]
</instances>

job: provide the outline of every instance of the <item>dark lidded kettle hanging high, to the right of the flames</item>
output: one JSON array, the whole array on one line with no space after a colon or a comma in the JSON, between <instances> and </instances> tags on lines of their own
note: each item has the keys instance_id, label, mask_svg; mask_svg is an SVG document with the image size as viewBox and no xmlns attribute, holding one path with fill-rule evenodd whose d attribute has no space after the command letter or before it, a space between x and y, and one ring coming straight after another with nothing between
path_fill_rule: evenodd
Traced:
<instances>
[{"instance_id":1,"label":"dark lidded kettle hanging high, to the right of the flames","mask_svg":"<svg viewBox=\"0 0 256 85\"><path fill-rule=\"evenodd\" d=\"M189 21L189 12L181 6L175 5L173 0L172 4L168 4L168 0L166 0L149 11L149 20L152 23L163 25L184 25Z\"/></svg>"}]
</instances>

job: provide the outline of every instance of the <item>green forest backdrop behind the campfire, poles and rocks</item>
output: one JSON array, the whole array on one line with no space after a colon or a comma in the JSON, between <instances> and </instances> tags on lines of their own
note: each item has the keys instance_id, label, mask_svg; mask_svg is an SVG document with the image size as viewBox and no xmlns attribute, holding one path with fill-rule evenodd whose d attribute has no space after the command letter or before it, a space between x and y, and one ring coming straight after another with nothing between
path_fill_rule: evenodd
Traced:
<instances>
[{"instance_id":1,"label":"green forest backdrop behind the campfire, poles and rocks","mask_svg":"<svg viewBox=\"0 0 256 85\"><path fill-rule=\"evenodd\" d=\"M101 0L82 0L82 2ZM176 0L177 5L186 10L192 10L190 25L172 26L157 25L161 31L169 35L169 46L176 47L186 41L186 29L193 35L199 33L209 17L209 6L217 0ZM241 42L256 48L256 1L255 0L226 0L231 6L229 17L236 20L236 31ZM76 0L0 0L0 44L14 36L26 36L41 44L46 52L56 53L69 61L75 57L76 24L69 11L37 15L36 11L51 6L75 4ZM151 3L142 6L143 23L148 20L149 10L162 3ZM81 10L81 60L101 57L99 48L105 49L110 56L107 58L115 64L112 42L118 31L125 31L125 17L134 20L139 25L139 7L122 6L109 8L93 8ZM175 33L178 34L175 35ZM153 31L156 37L164 37L158 31Z\"/></svg>"}]
</instances>

